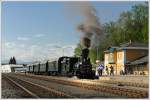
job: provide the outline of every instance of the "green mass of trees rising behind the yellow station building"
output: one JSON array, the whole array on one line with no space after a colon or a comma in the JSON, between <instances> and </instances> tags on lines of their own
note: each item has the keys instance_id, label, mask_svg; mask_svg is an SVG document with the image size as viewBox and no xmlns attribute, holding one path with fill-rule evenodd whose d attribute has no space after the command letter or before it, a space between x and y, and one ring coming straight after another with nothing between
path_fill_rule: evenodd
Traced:
<instances>
[{"instance_id":1,"label":"green mass of trees rising behind the yellow station building","mask_svg":"<svg viewBox=\"0 0 150 100\"><path fill-rule=\"evenodd\" d=\"M108 35L101 45L102 49L129 40L148 43L148 3L135 5L130 11L122 12L116 22L104 24L103 29Z\"/></svg>"}]
</instances>

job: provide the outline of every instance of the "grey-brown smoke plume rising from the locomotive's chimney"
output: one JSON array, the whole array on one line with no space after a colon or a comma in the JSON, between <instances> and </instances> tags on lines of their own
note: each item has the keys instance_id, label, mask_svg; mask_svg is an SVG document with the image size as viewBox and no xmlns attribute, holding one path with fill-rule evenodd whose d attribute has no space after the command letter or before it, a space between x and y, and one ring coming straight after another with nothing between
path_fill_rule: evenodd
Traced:
<instances>
[{"instance_id":1,"label":"grey-brown smoke plume rising from the locomotive's chimney","mask_svg":"<svg viewBox=\"0 0 150 100\"><path fill-rule=\"evenodd\" d=\"M83 22L77 26L77 30L82 33L80 37L81 45L87 48L97 47L103 38L103 33L96 15L96 9L89 2L72 2L70 4L73 13L83 17Z\"/></svg>"}]
</instances>

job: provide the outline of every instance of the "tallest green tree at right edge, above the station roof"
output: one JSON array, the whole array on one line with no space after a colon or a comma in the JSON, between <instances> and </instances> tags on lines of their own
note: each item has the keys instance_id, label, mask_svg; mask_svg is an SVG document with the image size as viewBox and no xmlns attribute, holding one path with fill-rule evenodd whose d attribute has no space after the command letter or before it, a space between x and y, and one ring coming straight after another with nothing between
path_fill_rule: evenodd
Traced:
<instances>
[{"instance_id":1,"label":"tallest green tree at right edge, above the station roof","mask_svg":"<svg viewBox=\"0 0 150 100\"><path fill-rule=\"evenodd\" d=\"M117 22L125 41L148 43L148 4L139 4L131 11L123 12Z\"/></svg>"}]
</instances>

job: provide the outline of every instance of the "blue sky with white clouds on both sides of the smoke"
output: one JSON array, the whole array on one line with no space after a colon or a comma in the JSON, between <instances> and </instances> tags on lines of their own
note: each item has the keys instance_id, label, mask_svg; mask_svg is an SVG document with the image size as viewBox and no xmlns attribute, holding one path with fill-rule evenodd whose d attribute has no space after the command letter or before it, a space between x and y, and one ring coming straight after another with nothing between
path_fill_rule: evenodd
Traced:
<instances>
[{"instance_id":1,"label":"blue sky with white clouds on both sides of the smoke","mask_svg":"<svg viewBox=\"0 0 150 100\"><path fill-rule=\"evenodd\" d=\"M137 1L90 2L101 24L116 21ZM80 41L76 27L82 16L68 9L68 2L9 2L1 5L2 63L15 56L18 62L54 60L73 56ZM83 5L86 6L86 5ZM77 5L76 5L77 7Z\"/></svg>"}]
</instances>

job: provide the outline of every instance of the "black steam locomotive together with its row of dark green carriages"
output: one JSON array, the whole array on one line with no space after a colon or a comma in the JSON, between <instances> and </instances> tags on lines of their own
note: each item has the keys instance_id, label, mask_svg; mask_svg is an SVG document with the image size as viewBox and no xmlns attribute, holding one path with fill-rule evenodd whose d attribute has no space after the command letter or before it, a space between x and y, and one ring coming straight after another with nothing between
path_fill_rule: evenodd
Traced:
<instances>
[{"instance_id":1,"label":"black steam locomotive together with its row of dark green carriages","mask_svg":"<svg viewBox=\"0 0 150 100\"><path fill-rule=\"evenodd\" d=\"M63 56L56 61L30 64L27 66L27 72L37 75L77 76L80 79L94 79L95 71L92 70L88 54L89 50L85 48L80 58Z\"/></svg>"}]
</instances>

